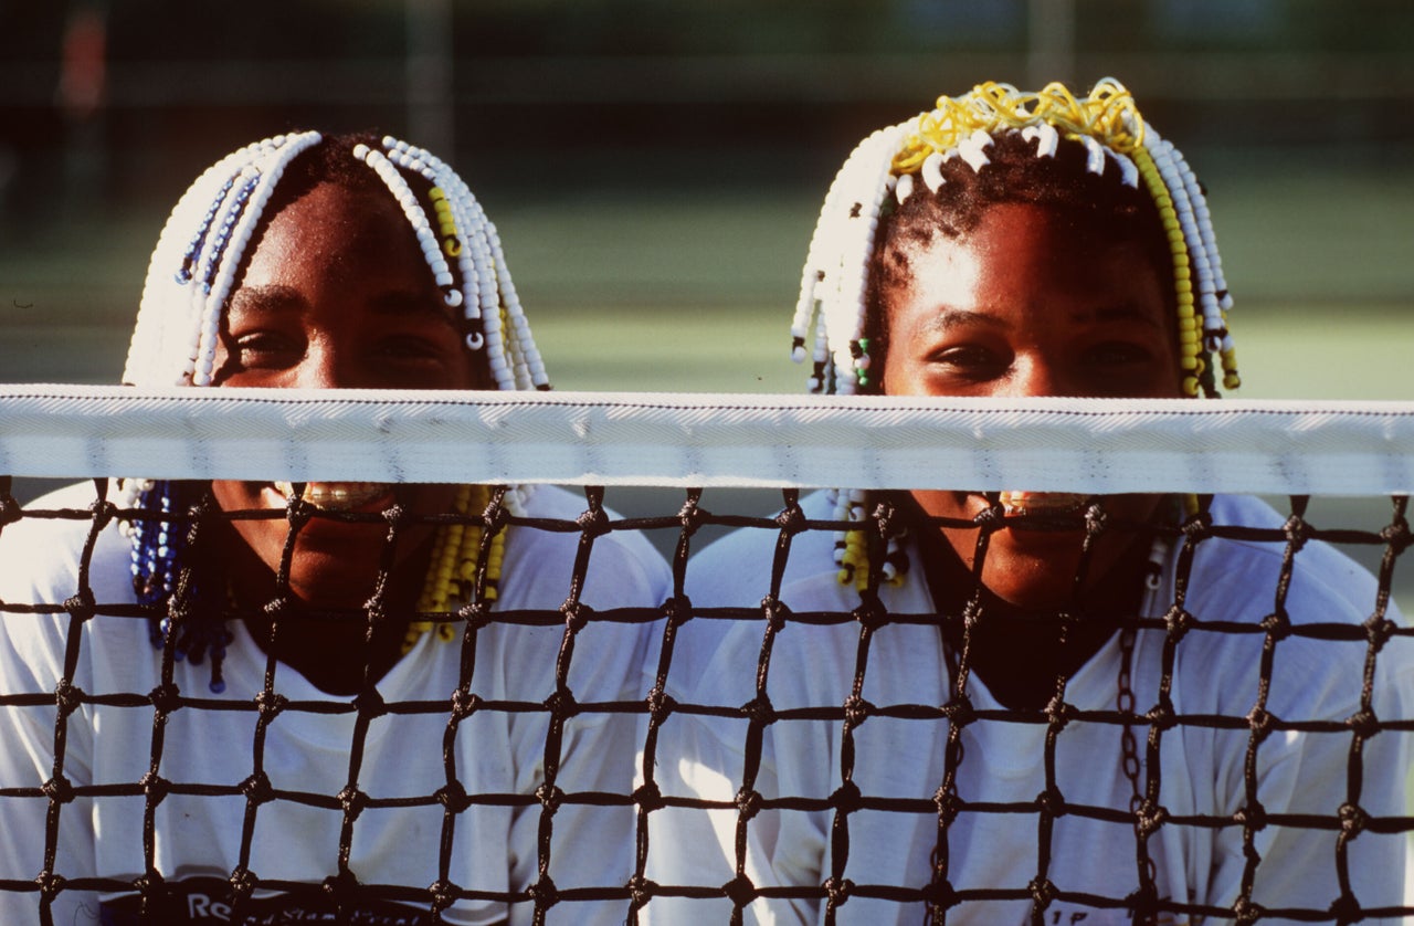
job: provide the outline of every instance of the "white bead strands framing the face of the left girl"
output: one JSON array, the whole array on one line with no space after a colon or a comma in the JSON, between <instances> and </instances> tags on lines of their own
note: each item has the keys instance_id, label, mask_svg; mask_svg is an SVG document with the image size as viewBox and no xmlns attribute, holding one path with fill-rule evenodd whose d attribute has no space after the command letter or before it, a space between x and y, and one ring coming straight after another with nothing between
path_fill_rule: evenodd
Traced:
<instances>
[{"instance_id":1,"label":"white bead strands framing the face of the left girl","mask_svg":"<svg viewBox=\"0 0 1414 926\"><path fill-rule=\"evenodd\" d=\"M191 184L153 250L124 383L212 385L221 320L255 230L286 167L322 140L317 131L271 136L228 154ZM351 153L399 204L444 301L468 322L465 349L478 356L485 352L496 389L547 389L544 362L510 280L499 235L467 184L444 161L404 141L386 137L382 150L375 144L356 147ZM421 202L402 171L441 189L455 226L454 242L438 238L440 208L436 201ZM148 479L123 479L120 506L134 506L150 488ZM513 513L523 513L526 496L525 488L516 486L505 503Z\"/></svg>"}]
</instances>

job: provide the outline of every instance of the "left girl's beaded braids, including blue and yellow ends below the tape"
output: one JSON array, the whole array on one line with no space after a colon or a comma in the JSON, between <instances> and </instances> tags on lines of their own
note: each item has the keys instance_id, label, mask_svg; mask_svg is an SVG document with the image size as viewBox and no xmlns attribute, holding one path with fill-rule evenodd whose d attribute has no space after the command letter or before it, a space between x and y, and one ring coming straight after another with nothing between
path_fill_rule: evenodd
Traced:
<instances>
[{"instance_id":1,"label":"left girl's beaded braids, including blue and yellow ends below the tape","mask_svg":"<svg viewBox=\"0 0 1414 926\"><path fill-rule=\"evenodd\" d=\"M286 168L320 144L328 141L317 131L256 141L209 167L187 189L153 250L124 383L212 385L221 320L250 240L266 218L266 206ZM382 139L379 147L356 144L351 154L369 167L399 204L445 304L460 310L465 349L485 356L496 389L549 389L544 363L510 281L501 238L465 181L430 153L392 137ZM410 175L431 185L426 202L409 184ZM174 529L171 519L191 515L205 492L180 482L120 482L119 506L130 512L123 529L133 544L133 585L139 602L151 606L154 615L175 592L187 554L188 532ZM523 515L529 492L530 486L512 486L505 491L502 503L512 515ZM479 513L489 499L491 489L485 486L461 486L455 513ZM448 612L454 602L471 601L482 534L482 526L467 522L437 529L419 612ZM493 601L502 577L503 532L492 536L486 550L481 595ZM171 642L178 657L199 663L211 655L212 691L225 688L221 663L232 639L221 614L226 591L219 590L218 595L218 590L198 584L191 594L206 606L195 609L181 628L174 628L167 616L151 618L154 646L163 647L175 633ZM416 622L403 652L431 628L430 619ZM437 625L437 636L454 638L452 625Z\"/></svg>"}]
</instances>

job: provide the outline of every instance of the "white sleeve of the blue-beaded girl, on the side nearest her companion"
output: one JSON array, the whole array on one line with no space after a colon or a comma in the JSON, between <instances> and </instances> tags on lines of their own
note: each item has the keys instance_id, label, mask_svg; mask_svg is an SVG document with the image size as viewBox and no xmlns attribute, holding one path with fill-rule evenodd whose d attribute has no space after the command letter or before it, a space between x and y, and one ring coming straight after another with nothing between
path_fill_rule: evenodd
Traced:
<instances>
[{"instance_id":1,"label":"white sleeve of the blue-beaded girl, on the side nearest her companion","mask_svg":"<svg viewBox=\"0 0 1414 926\"><path fill-rule=\"evenodd\" d=\"M537 502L556 505L554 516L574 517L578 512L578 500L559 492L542 499L542 492ZM503 598L503 605L559 608L571 592L578 543L573 533L522 530L508 543L506 574L518 590ZM597 537L583 580L580 601L590 612L574 632L573 650L564 646L563 626L542 628L549 632L519 635L527 645L513 659L520 664L508 667L525 697L539 703L554 696L557 663L568 657L564 677L578 705L557 728L546 713L512 720L518 792L534 800L513 811L508 860L512 891L520 891L542 884L540 864L547 852L544 875L561 896L549 908L547 923L617 926L628 918L629 902L622 891L635 869L638 810L626 799L633 790L642 717L638 705L645 697L641 667L660 622L595 615L659 609L672 587L666 563L636 532ZM611 703L624 707L614 710ZM553 787L547 775L551 758L557 759ZM594 896L611 891L619 896ZM529 901L513 903L510 922L529 923L533 910Z\"/></svg>"}]
</instances>

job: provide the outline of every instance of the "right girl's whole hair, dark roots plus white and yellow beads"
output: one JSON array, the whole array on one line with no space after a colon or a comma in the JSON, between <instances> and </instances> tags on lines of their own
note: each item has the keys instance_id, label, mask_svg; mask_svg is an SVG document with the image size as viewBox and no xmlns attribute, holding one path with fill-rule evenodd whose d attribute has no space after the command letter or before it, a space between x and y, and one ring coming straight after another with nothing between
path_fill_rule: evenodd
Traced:
<instances>
[{"instance_id":1,"label":"right girl's whole hair, dark roots plus white and yellow beads","mask_svg":"<svg viewBox=\"0 0 1414 926\"><path fill-rule=\"evenodd\" d=\"M878 392L889 338L881 294L911 276L909 250L966 235L1001 202L1056 208L1135 242L1158 279L1172 280L1182 393L1217 397L1219 385L1240 385L1203 189L1128 90L1104 79L1085 98L1060 83L1035 93L981 83L855 147L820 211L792 324L793 358L812 361L810 392ZM867 492L836 489L836 520L863 522L870 508ZM843 582L864 585L860 532L836 537L836 561ZM906 567L891 544L884 578Z\"/></svg>"}]
</instances>

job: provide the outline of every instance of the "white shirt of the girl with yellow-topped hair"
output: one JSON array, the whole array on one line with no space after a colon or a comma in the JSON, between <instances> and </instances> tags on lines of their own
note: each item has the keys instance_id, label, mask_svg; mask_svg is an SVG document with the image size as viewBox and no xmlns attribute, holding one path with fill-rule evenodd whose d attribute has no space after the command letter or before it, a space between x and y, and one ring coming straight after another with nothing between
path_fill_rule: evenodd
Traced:
<instances>
[{"instance_id":1,"label":"white shirt of the girl with yellow-topped hair","mask_svg":"<svg viewBox=\"0 0 1414 926\"><path fill-rule=\"evenodd\" d=\"M817 502L806 500L807 513ZM1247 498L1219 498L1212 512L1217 524L1281 523L1271 509ZM762 556L769 543L765 533L728 536L690 563L694 605L761 599L769 574L769 556ZM820 544L810 547L816 554L822 550ZM916 556L916 550L911 553ZM1198 622L1232 622L1249 632L1195 626L1172 650L1169 690L1178 722L1159 734L1158 762L1144 762L1138 772L1141 787L1151 775L1157 778L1158 803L1168 814L1147 843L1158 898L1167 905L1161 923L1203 922L1205 913L1206 922L1225 922L1223 910L1237 903L1247 855L1236 814L1249 806L1249 782L1268 817L1324 819L1319 826L1271 821L1251 831L1260 864L1250 901L1267 909L1326 910L1339 898L1336 819L1342 804L1357 796L1372 817L1406 813L1414 732L1374 735L1363 742L1355 763L1355 734L1345 727L1277 729L1253 742L1244 718L1260 697L1266 633L1258 625L1275 606L1281 556L1282 544L1209 539L1193 560L1186 611ZM1151 616L1162 616L1175 602L1176 561L1176 550L1169 551L1164 580L1145 605ZM802 574L806 563L788 571L781 599L792 614L848 615L860 605L858 592L839 584L827 560L823 565L814 575ZM923 570L916 565L902 585L880 591L889 614L935 612ZM1374 612L1376 584L1340 553L1309 543L1295 556L1285 608L1298 628L1356 626ZM1393 605L1387 616L1400 621ZM694 645L680 645L669 694L721 707L752 701L764 629L756 621L731 626L718 640L701 632ZM853 621L806 626L788 619L769 659L771 707L778 713L841 708L853 694L861 659L860 631ZM1130 690L1140 714L1158 703L1167 647L1162 629L1135 635ZM1350 718L1360 710L1367 650L1363 638L1336 642L1291 635L1277 640L1266 710L1282 722ZM817 891L839 869L853 888L837 906L836 922L921 923L926 913L921 892L935 879L933 860L946 858L946 882L966 898L949 910L947 923L1028 923L1029 885L1041 878L1058 892L1045 909L1046 923L1131 922L1124 898L1140 888L1141 878L1128 817L1134 785L1123 770L1120 725L1070 721L1056 734L1053 787L1070 811L1046 817L1036 804L1048 790L1045 717L1001 711L973 676L967 697L981 718L960 729L960 811L940 837L935 795L945 780L950 727L939 708L953 698L940 633L926 623L885 625L874 633L864 664L860 697L874 711L853 731L853 756L844 749L839 711L824 720L776 720L764 728L754 782L762 799L827 802L837 795L854 809L837 814L823 803L810 807L797 802L759 810L747 824L742 855L755 888ZM1380 721L1414 720L1414 640L1390 639L1374 664L1374 715ZM1065 701L1077 711L1114 711L1120 666L1116 635L1070 677ZM925 715L887 715L908 714L905 705L919 705L915 713ZM1219 727L1199 722L1217 717L1227 720ZM1134 732L1144 758L1150 728L1141 724ZM655 776L663 793L734 800L747 772L747 734L745 718L670 715L656 749ZM1352 769L1359 769L1353 778ZM848 789L841 790L846 770L863 799L857 804L850 804ZM1077 811L1082 807L1093 816ZM735 875L740 817L737 809L670 806L653 813L649 878L660 885L725 885ZM1372 827L1349 843L1349 877L1362 908L1404 902L1406 838ZM646 913L653 923L708 923L727 922L731 908L725 898L656 898ZM817 898L758 898L745 913L748 923L813 923L823 922L824 903Z\"/></svg>"}]
</instances>

